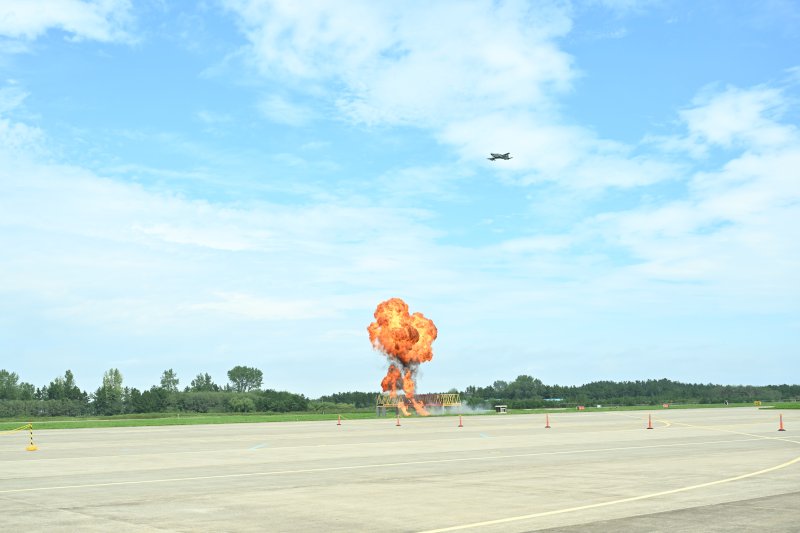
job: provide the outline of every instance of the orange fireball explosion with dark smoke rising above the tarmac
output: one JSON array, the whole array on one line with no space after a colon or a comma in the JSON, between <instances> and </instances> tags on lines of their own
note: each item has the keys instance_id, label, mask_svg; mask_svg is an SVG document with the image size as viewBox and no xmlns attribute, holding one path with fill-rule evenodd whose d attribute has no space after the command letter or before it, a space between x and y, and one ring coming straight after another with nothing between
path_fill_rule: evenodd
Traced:
<instances>
[{"instance_id":1,"label":"orange fireball explosion with dark smoke rising above the tarmac","mask_svg":"<svg viewBox=\"0 0 800 533\"><path fill-rule=\"evenodd\" d=\"M397 384L401 383L406 400L420 415L427 416L425 404L414 398L415 376L420 363L433 359L431 343L436 340L436 326L422 313L408 314L408 305L400 298L391 298L378 304L375 322L367 327L369 340L376 350L390 360L386 377L381 381L384 392L394 398ZM402 399L398 407L408 416L408 406Z\"/></svg>"}]
</instances>

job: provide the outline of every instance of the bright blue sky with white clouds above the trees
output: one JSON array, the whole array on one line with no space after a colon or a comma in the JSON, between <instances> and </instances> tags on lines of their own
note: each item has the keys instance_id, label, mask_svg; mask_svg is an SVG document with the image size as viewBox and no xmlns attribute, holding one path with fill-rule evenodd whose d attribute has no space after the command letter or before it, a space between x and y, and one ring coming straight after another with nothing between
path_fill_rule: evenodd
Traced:
<instances>
[{"instance_id":1,"label":"bright blue sky with white clouds above the trees","mask_svg":"<svg viewBox=\"0 0 800 533\"><path fill-rule=\"evenodd\" d=\"M0 0L0 368L800 376L800 3ZM489 161L490 152L512 159Z\"/></svg>"}]
</instances>

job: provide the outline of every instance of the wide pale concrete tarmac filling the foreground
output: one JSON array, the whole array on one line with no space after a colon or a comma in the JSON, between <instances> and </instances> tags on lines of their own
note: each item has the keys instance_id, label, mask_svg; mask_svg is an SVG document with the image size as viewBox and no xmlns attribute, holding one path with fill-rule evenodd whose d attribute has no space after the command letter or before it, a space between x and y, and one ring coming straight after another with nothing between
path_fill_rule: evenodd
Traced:
<instances>
[{"instance_id":1,"label":"wide pale concrete tarmac filling the foreground","mask_svg":"<svg viewBox=\"0 0 800 533\"><path fill-rule=\"evenodd\" d=\"M646 429L648 415L653 429ZM800 412L554 412L0 435L0 529L800 531ZM795 429L796 428L796 429Z\"/></svg>"}]
</instances>

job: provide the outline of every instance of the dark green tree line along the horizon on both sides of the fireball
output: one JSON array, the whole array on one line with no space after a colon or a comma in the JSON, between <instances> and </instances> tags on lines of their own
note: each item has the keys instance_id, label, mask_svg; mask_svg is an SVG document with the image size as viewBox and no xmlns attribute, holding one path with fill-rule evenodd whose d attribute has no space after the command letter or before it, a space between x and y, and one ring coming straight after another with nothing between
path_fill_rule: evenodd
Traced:
<instances>
[{"instance_id":1,"label":"dark green tree line along the horizon on both sides of the fireball","mask_svg":"<svg viewBox=\"0 0 800 533\"><path fill-rule=\"evenodd\" d=\"M262 390L263 373L257 368L235 366L228 382L214 383L208 373L198 374L181 390L172 369L165 370L158 385L139 390L126 387L116 368L103 374L101 385L91 393L75 384L67 370L40 388L21 382L19 376L0 370L0 418L21 416L86 416L161 412L335 412L343 408L371 408L376 392L339 392L310 400L302 394ZM511 382L495 381L484 387L469 386L459 392L472 407L505 404L511 409L573 405L657 405L661 403L740 403L796 400L800 385L715 385L681 383L669 379L644 381L594 381L584 385L545 385L538 378L520 375Z\"/></svg>"}]
</instances>

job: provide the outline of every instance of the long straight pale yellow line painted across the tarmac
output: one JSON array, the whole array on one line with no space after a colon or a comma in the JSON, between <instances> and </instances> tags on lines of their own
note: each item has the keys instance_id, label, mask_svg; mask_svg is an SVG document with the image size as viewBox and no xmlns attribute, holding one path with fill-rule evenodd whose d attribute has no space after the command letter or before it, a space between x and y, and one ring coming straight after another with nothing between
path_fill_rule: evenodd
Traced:
<instances>
[{"instance_id":1,"label":"long straight pale yellow line painted across the tarmac","mask_svg":"<svg viewBox=\"0 0 800 533\"><path fill-rule=\"evenodd\" d=\"M97 487L118 487L125 485L149 485L156 483L176 483L184 481L202 481L209 479L235 479L246 477L263 477L263 476L279 476L288 474L310 474L320 472L336 472L344 470L366 470L370 468L390 468L390 467L405 467L415 465L429 465L429 464L443 464L443 463L460 463L470 461L497 461L502 459L517 459L521 457L539 457L548 455L570 455L570 454L586 454L586 453L602 453L602 452L619 452L625 450L643 450L651 448L677 448L685 446L702 446L707 444L728 444L734 442L747 442L753 440L761 440L760 438L746 438L746 439L728 439L716 440L705 442L679 442L673 444L652 444L648 446L621 446L615 448L594 448L594 449L581 449L581 450L559 450L554 452L533 452L533 453L520 453L513 455L487 455L480 457L460 457L448 459L428 459L424 461L406 461L396 463L381 463L381 464L367 464L367 465L350 465L350 466L331 466L326 468L307 468L300 470L274 470L269 472L245 472L241 474L218 474L210 476L193 476L181 478L166 478L166 479L145 479L139 481L112 481L108 483L85 483L80 485L58 485L51 487L29 487L24 489L6 489L0 490L0 494L14 494L20 492L39 492L51 490L73 490L81 488L97 488Z\"/></svg>"}]
</instances>

